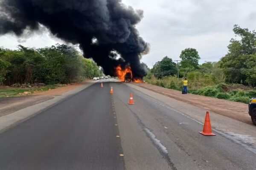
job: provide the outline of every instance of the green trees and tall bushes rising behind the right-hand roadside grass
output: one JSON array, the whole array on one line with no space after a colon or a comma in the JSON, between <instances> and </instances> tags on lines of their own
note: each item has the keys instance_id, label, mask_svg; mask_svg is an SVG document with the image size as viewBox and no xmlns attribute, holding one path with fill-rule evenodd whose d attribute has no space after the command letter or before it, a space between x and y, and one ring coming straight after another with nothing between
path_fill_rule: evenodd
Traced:
<instances>
[{"instance_id":1,"label":"green trees and tall bushes rising behind the right-hand roadside grass","mask_svg":"<svg viewBox=\"0 0 256 170\"><path fill-rule=\"evenodd\" d=\"M256 87L256 32L237 25L233 32L236 38L230 40L227 54L218 62L200 65L198 51L186 48L181 51L179 63L166 56L156 62L152 69L148 68L146 79L151 79L152 76L157 79L189 76L190 82L205 78L203 82L209 82L209 85L226 82Z\"/></svg>"}]
</instances>

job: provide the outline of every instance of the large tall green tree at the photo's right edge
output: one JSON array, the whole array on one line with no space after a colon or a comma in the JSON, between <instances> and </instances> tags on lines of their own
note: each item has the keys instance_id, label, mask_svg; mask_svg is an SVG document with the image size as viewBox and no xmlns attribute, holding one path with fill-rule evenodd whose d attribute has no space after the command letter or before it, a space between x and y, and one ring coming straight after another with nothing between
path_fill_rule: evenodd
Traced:
<instances>
[{"instance_id":1,"label":"large tall green tree at the photo's right edge","mask_svg":"<svg viewBox=\"0 0 256 170\"><path fill-rule=\"evenodd\" d=\"M254 56L256 54L256 32L235 25L233 32L240 40L231 39L228 53L221 58L221 68L227 82L256 86L254 77Z\"/></svg>"}]
</instances>

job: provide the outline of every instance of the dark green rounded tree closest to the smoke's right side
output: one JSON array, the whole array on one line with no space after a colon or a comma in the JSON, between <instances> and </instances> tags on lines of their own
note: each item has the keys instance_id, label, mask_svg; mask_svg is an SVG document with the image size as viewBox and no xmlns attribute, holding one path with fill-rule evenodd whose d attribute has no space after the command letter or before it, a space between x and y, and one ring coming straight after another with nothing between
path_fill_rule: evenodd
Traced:
<instances>
[{"instance_id":1,"label":"dark green rounded tree closest to the smoke's right side","mask_svg":"<svg viewBox=\"0 0 256 170\"><path fill-rule=\"evenodd\" d=\"M175 62L169 57L164 57L161 61L156 62L152 68L152 74L158 79L164 76L173 76L177 73Z\"/></svg>"}]
</instances>

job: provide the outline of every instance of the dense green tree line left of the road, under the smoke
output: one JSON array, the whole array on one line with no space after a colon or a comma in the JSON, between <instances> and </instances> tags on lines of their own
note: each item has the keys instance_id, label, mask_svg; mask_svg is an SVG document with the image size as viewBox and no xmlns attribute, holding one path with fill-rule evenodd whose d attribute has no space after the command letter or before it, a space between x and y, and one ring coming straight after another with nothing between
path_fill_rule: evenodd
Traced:
<instances>
[{"instance_id":1,"label":"dense green tree line left of the road, under the smoke","mask_svg":"<svg viewBox=\"0 0 256 170\"><path fill-rule=\"evenodd\" d=\"M82 57L72 46L0 48L0 85L66 84L99 77L100 74L96 63Z\"/></svg>"}]
</instances>

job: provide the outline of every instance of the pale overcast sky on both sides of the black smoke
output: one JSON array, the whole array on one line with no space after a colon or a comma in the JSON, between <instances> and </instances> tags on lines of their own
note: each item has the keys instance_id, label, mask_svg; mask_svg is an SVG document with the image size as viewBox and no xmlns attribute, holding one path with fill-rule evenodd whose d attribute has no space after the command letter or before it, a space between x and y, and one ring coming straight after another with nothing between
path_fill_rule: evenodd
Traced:
<instances>
[{"instance_id":1,"label":"pale overcast sky on both sides of the black smoke","mask_svg":"<svg viewBox=\"0 0 256 170\"><path fill-rule=\"evenodd\" d=\"M143 56L150 68L168 56L179 59L185 48L197 49L201 60L218 61L227 54L227 45L233 26L256 29L256 0L122 0L127 6L144 11L143 20L137 25L140 36L151 46ZM19 38L7 34L0 36L0 47L17 49L42 48L64 43L53 37L47 29Z\"/></svg>"}]
</instances>

